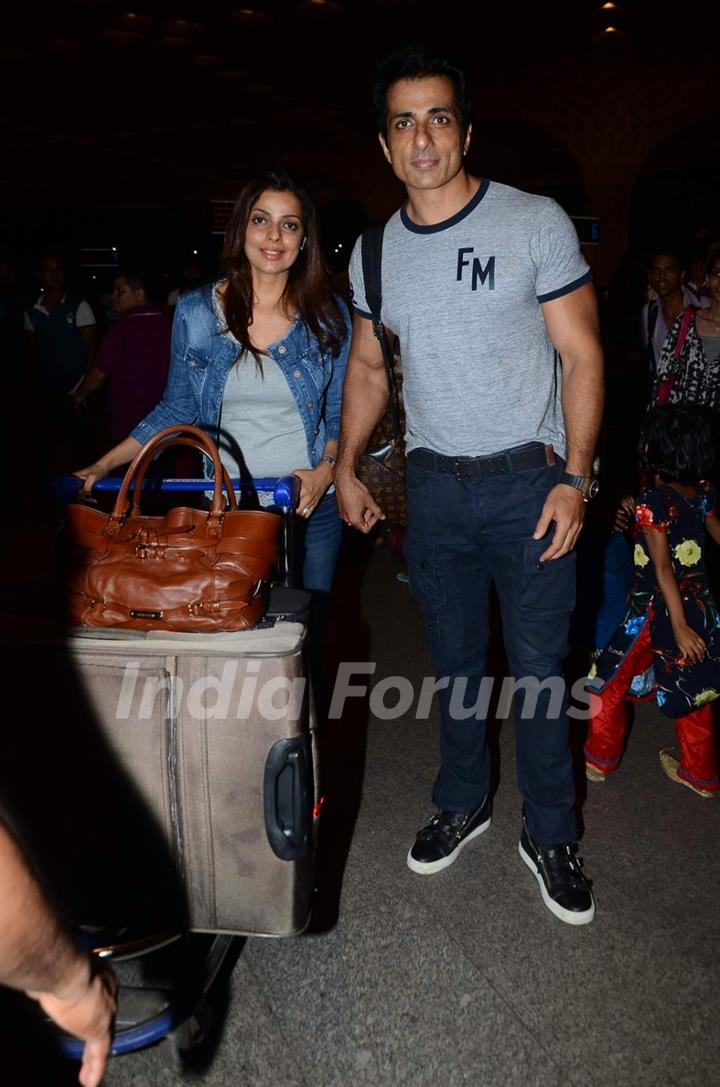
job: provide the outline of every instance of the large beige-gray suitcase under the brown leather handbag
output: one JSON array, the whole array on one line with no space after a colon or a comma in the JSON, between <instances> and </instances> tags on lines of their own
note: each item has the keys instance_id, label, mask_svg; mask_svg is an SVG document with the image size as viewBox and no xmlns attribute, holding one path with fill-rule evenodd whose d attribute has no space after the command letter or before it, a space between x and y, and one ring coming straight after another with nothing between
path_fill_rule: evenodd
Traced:
<instances>
[{"instance_id":1,"label":"large beige-gray suitcase under the brown leather handbag","mask_svg":"<svg viewBox=\"0 0 720 1087\"><path fill-rule=\"evenodd\" d=\"M305 638L291 622L70 638L88 708L175 859L194 930L289 936L308 923L318 777Z\"/></svg>"}]
</instances>

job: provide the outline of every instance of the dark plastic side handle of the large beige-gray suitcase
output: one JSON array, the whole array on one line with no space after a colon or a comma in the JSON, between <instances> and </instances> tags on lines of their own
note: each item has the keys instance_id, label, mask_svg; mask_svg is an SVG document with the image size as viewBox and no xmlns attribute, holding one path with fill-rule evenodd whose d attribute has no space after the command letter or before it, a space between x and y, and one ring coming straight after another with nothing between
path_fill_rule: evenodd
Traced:
<instances>
[{"instance_id":1,"label":"dark plastic side handle of the large beige-gray suitcase","mask_svg":"<svg viewBox=\"0 0 720 1087\"><path fill-rule=\"evenodd\" d=\"M282 861L297 861L310 842L312 789L303 736L277 740L265 760L264 809L268 840Z\"/></svg>"}]
</instances>

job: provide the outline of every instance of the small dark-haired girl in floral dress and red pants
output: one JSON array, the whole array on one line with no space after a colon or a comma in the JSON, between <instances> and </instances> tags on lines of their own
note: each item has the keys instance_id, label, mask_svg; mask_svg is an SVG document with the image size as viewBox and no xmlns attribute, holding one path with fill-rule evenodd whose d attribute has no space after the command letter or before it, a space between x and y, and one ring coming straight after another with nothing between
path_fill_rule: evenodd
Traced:
<instances>
[{"instance_id":1,"label":"small dark-haired girl in floral dress and red pants","mask_svg":"<svg viewBox=\"0 0 720 1087\"><path fill-rule=\"evenodd\" d=\"M704 560L706 530L720 542L713 441L692 405L654 409L641 436L641 461L655 477L635 507L635 582L625 617L591 671L598 696L585 746L585 770L603 782L617 770L625 701L655 692L673 717L679 755L660 751L668 777L700 797L718 789L710 702L720 696L720 615Z\"/></svg>"}]
</instances>

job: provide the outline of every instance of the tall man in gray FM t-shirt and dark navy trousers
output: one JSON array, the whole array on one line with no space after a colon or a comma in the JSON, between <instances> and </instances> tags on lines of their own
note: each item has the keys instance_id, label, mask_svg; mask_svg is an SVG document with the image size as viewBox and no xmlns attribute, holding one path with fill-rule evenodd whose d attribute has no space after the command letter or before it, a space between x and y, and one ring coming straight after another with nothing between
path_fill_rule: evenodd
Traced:
<instances>
[{"instance_id":1,"label":"tall man in gray FM t-shirt and dark navy trousers","mask_svg":"<svg viewBox=\"0 0 720 1087\"><path fill-rule=\"evenodd\" d=\"M553 913L585 924L595 905L575 857L560 662L601 413L591 275L554 201L465 172L471 126L458 68L406 50L385 63L375 99L381 147L407 189L385 228L382 316L402 354L410 587L442 719L439 811L408 865L440 871L491 822L480 702L495 582L512 675L535 687L550 680L529 714L516 704L520 853ZM355 463L384 410L387 382L359 246L350 278L356 313L335 483L344 520L369 532L383 512ZM548 689L558 685L559 713Z\"/></svg>"}]
</instances>

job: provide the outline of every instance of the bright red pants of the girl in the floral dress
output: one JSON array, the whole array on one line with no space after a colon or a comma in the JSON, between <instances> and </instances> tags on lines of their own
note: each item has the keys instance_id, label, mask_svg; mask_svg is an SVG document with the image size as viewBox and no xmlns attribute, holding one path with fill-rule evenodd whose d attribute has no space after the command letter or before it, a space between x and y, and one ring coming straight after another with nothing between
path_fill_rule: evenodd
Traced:
<instances>
[{"instance_id":1,"label":"bright red pants of the girl in the floral dress","mask_svg":"<svg viewBox=\"0 0 720 1087\"><path fill-rule=\"evenodd\" d=\"M601 694L594 696L594 700L599 702L599 710L591 717L585 759L598 770L618 769L628 723L628 691L633 676L644 672L651 663L650 624L647 622L616 674L605 685ZM702 789L715 791L720 787L720 782L710 707L703 705L682 717L675 717L675 732L680 744L679 775Z\"/></svg>"}]
</instances>

